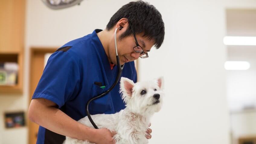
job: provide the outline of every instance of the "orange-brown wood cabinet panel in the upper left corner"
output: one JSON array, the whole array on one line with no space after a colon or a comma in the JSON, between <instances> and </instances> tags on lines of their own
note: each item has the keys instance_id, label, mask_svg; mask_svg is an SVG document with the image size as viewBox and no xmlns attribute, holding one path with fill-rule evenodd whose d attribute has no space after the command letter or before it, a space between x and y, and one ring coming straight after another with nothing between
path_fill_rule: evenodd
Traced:
<instances>
[{"instance_id":1,"label":"orange-brown wood cabinet panel in the upper left corner","mask_svg":"<svg viewBox=\"0 0 256 144\"><path fill-rule=\"evenodd\" d=\"M24 48L25 0L0 0L0 53Z\"/></svg>"}]
</instances>

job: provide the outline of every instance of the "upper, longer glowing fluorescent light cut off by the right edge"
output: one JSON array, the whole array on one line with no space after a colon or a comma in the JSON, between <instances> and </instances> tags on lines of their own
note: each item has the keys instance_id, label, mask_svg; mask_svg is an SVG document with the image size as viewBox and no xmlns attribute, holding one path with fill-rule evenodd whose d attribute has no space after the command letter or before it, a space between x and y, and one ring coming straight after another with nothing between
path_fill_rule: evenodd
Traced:
<instances>
[{"instance_id":1,"label":"upper, longer glowing fluorescent light cut off by the right edge","mask_svg":"<svg viewBox=\"0 0 256 144\"><path fill-rule=\"evenodd\" d=\"M225 45L256 46L256 37L232 37L223 38Z\"/></svg>"}]
</instances>

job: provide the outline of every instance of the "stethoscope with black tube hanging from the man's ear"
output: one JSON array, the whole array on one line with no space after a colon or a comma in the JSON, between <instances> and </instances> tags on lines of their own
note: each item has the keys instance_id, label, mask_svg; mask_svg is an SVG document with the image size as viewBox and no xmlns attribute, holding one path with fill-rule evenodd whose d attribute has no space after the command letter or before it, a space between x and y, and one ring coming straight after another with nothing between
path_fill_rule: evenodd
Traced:
<instances>
[{"instance_id":1,"label":"stethoscope with black tube hanging from the man's ear","mask_svg":"<svg viewBox=\"0 0 256 144\"><path fill-rule=\"evenodd\" d=\"M114 84L104 93L96 96L96 97L93 97L91 99L89 99L89 101L87 102L86 104L86 113L87 113L87 116L91 122L91 124L94 126L95 129L99 129L98 126L96 126L96 124L94 123L94 121L92 120L91 118L91 115L89 113L89 104L91 101L97 99L97 98L100 98L100 97L103 97L104 95L106 95L107 93L109 93L118 83L119 79L120 79L120 76L121 76L121 73L122 73L122 70L123 70L123 67L124 67L124 64L121 66L120 65L120 61L119 61L119 57L118 57L118 54L117 54L117 30L121 30L123 27L119 27L119 28L116 28L115 30L115 49L116 49L116 57L117 57L117 66L118 66L118 74L117 74L117 77L116 77L116 80L114 82Z\"/></svg>"}]
</instances>

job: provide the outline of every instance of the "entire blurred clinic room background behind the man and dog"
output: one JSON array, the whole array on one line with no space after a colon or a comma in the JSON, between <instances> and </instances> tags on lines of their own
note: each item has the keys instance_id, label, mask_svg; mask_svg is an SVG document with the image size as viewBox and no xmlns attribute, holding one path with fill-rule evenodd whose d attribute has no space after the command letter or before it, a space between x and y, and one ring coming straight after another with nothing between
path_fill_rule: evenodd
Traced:
<instances>
[{"instance_id":1,"label":"entire blurred clinic room background behind the man and dog","mask_svg":"<svg viewBox=\"0 0 256 144\"><path fill-rule=\"evenodd\" d=\"M104 29L128 0L83 0L53 10L0 0L0 144L33 144L27 118L45 61L63 44ZM256 144L256 0L148 0L165 40L137 63L138 80L165 78L149 143Z\"/></svg>"}]
</instances>

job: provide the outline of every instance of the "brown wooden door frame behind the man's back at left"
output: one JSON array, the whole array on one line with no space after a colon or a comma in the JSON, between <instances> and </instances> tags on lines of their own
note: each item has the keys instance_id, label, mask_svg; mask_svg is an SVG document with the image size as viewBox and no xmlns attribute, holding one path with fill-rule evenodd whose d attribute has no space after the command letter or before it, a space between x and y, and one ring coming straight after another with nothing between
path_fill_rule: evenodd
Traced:
<instances>
[{"instance_id":1,"label":"brown wooden door frame behind the man's back at left","mask_svg":"<svg viewBox=\"0 0 256 144\"><path fill-rule=\"evenodd\" d=\"M30 79L29 79L29 97L28 97L28 106L30 105L30 101L31 101L31 98L32 98L32 94L34 93L34 89L32 89L32 76L33 75L33 72L32 72L32 66L33 66L33 59L34 59L34 56L36 53L54 53L56 50L58 49L58 47L31 47L29 52L30 52L30 68L29 68L29 75L30 75ZM29 144L32 144L32 141L31 141L31 138L32 138L32 133L30 133L30 130L32 129L32 126L31 126L31 122L30 120L27 120L27 126L28 126L28 135L27 135L27 138L28 138L28 143Z\"/></svg>"}]
</instances>

